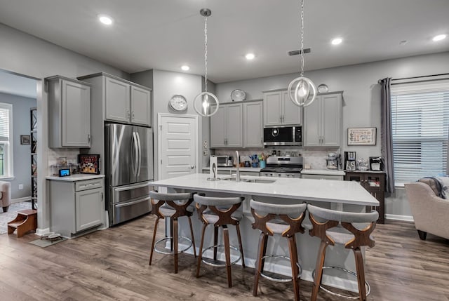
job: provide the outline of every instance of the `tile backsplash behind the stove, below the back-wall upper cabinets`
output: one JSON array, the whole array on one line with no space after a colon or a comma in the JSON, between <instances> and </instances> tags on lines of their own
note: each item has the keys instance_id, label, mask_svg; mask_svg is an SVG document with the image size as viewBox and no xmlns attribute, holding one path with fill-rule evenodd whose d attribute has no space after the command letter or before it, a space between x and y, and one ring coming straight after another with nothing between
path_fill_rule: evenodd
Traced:
<instances>
[{"instance_id":1,"label":"tile backsplash behind the stove, below the back-wall upper cabinets","mask_svg":"<svg viewBox=\"0 0 449 301\"><path fill-rule=\"evenodd\" d=\"M281 151L281 156L285 156L287 152L296 152L304 158L304 164L309 164L312 169L326 169L326 159L328 153L336 152L335 149L302 149L299 147L267 147L264 149L237 149L239 151L241 161L250 161L248 156L252 154L272 154L273 150ZM234 156L236 149L215 149L212 154Z\"/></svg>"}]
</instances>

